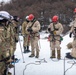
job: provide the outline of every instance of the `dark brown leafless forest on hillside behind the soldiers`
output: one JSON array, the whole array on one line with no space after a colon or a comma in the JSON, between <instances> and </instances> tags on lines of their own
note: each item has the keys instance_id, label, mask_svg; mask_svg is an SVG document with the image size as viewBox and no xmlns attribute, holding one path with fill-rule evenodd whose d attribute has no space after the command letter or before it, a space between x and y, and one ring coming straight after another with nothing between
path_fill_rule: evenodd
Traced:
<instances>
[{"instance_id":1,"label":"dark brown leafless forest on hillside behind the soldiers","mask_svg":"<svg viewBox=\"0 0 76 75\"><path fill-rule=\"evenodd\" d=\"M42 25L48 25L54 15L59 16L61 23L69 24L75 7L76 0L10 0L0 3L0 11L7 11L21 19L32 13Z\"/></svg>"}]
</instances>

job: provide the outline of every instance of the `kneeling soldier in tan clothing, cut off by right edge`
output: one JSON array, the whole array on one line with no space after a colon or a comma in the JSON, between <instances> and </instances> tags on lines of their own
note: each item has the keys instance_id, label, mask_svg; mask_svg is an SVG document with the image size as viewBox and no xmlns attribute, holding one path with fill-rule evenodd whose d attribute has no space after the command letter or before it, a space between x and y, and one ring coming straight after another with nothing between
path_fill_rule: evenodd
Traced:
<instances>
[{"instance_id":1,"label":"kneeling soldier in tan clothing, cut off by right edge","mask_svg":"<svg viewBox=\"0 0 76 75\"><path fill-rule=\"evenodd\" d=\"M74 21L72 22L72 26L70 29L69 37L71 38L73 34L73 41L71 43L72 51L67 53L66 58L73 59L76 58L76 8L74 9ZM70 43L68 44L70 46ZM68 46L68 47L69 47Z\"/></svg>"}]
</instances>

